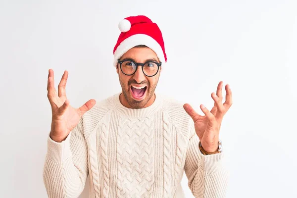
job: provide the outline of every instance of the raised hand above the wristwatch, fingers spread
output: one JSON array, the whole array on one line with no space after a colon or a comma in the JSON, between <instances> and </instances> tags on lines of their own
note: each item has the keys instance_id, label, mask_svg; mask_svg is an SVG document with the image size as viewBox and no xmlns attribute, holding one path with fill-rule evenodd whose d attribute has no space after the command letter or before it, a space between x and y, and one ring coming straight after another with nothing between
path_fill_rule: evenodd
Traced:
<instances>
[{"instance_id":1,"label":"raised hand above the wristwatch, fingers spread","mask_svg":"<svg viewBox=\"0 0 297 198\"><path fill-rule=\"evenodd\" d=\"M230 86L225 86L226 101L222 103L222 87L221 81L217 87L216 94L211 93L211 98L214 100L214 106L209 111L203 104L200 105L204 116L199 115L190 104L184 104L184 109L192 117L195 123L195 131L199 137L203 149L207 152L218 150L219 132L223 116L232 105L232 93Z\"/></svg>"}]
</instances>

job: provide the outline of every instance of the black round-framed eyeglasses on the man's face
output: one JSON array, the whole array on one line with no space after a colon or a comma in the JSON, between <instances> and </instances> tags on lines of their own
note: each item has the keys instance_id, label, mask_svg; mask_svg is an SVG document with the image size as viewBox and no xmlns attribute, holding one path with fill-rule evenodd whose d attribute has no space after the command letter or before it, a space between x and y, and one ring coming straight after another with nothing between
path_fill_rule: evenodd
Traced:
<instances>
[{"instance_id":1,"label":"black round-framed eyeglasses on the man's face","mask_svg":"<svg viewBox=\"0 0 297 198\"><path fill-rule=\"evenodd\" d=\"M156 75L159 71L159 67L161 66L162 62L154 62L154 61L147 61L145 63L137 63L132 60L124 59L121 60L118 59L118 63L120 64L121 71L127 75L131 76L135 74L138 66L142 67L142 70L144 74L148 77L152 77Z\"/></svg>"}]
</instances>

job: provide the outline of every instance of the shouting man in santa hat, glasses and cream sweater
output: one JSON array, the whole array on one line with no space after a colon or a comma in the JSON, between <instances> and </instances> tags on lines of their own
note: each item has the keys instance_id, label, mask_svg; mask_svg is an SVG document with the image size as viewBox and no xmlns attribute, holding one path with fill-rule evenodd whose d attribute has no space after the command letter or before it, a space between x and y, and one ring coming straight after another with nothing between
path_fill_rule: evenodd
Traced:
<instances>
[{"instance_id":1,"label":"shouting man in santa hat, glasses and cream sweater","mask_svg":"<svg viewBox=\"0 0 297 198\"><path fill-rule=\"evenodd\" d=\"M89 175L91 198L183 198L184 170L196 198L225 197L219 130L232 104L229 86L224 103L220 82L211 111L200 105L204 116L155 94L167 60L161 31L146 16L127 17L119 29L113 53L121 93L74 108L65 94L67 71L56 93L49 70L49 197L78 197Z\"/></svg>"}]
</instances>

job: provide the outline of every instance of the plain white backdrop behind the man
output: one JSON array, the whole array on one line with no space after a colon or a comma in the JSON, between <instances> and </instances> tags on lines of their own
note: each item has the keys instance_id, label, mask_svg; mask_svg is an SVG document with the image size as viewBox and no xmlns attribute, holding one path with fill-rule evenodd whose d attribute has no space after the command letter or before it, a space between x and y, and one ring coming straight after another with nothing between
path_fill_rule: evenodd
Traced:
<instances>
[{"instance_id":1,"label":"plain white backdrop behind the man","mask_svg":"<svg viewBox=\"0 0 297 198\"><path fill-rule=\"evenodd\" d=\"M296 198L296 0L1 0L0 197L47 197L48 70L56 88L68 70L75 107L120 92L112 50L118 22L132 15L147 15L163 33L168 62L157 92L202 114L219 81L231 86L220 131L227 197Z\"/></svg>"}]
</instances>

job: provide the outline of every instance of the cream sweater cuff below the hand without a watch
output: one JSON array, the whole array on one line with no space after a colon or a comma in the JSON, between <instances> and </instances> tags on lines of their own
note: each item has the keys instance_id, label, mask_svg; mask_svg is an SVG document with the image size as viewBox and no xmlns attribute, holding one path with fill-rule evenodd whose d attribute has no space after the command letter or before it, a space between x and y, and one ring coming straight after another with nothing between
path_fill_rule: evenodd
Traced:
<instances>
[{"instance_id":1,"label":"cream sweater cuff below the hand without a watch","mask_svg":"<svg viewBox=\"0 0 297 198\"><path fill-rule=\"evenodd\" d=\"M55 163L62 163L67 158L72 156L72 152L70 149L70 136L71 136L71 132L69 133L67 138L60 143L53 141L48 136L47 157L49 158L50 161L53 161Z\"/></svg>"}]
</instances>

